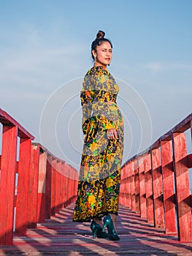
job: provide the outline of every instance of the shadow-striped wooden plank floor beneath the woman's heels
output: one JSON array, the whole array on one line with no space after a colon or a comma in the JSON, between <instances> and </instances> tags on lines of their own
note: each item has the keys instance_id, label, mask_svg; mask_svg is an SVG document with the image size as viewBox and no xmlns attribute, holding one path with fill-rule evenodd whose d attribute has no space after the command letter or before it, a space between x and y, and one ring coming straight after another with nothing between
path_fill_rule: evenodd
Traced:
<instances>
[{"instance_id":1,"label":"shadow-striped wooden plank floor beneath the woman's heels","mask_svg":"<svg viewBox=\"0 0 192 256\"><path fill-rule=\"evenodd\" d=\"M93 239L89 223L72 222L73 207L29 229L27 236L15 236L13 246L0 246L0 255L192 255L192 243L166 236L124 206L118 216L120 241Z\"/></svg>"}]
</instances>

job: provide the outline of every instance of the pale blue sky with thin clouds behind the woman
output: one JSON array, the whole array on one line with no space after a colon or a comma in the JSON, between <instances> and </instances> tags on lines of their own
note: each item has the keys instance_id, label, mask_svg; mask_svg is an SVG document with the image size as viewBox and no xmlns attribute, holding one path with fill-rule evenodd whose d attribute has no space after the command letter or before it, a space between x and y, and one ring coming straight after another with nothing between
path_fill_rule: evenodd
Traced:
<instances>
[{"instance_id":1,"label":"pale blue sky with thin clouds behind the woman","mask_svg":"<svg viewBox=\"0 0 192 256\"><path fill-rule=\"evenodd\" d=\"M93 65L91 42L104 30L125 162L191 113L191 10L191 0L1 1L1 108L78 169L79 91Z\"/></svg>"}]
</instances>

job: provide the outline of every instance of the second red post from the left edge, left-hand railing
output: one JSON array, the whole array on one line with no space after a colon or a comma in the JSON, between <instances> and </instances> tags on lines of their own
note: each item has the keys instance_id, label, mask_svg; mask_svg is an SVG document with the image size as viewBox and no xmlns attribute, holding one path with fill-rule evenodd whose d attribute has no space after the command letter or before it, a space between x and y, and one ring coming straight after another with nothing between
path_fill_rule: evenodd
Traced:
<instances>
[{"instance_id":1,"label":"second red post from the left edge, left-hand railing","mask_svg":"<svg viewBox=\"0 0 192 256\"><path fill-rule=\"evenodd\" d=\"M20 138L18 165L18 194L16 203L15 234L26 235L28 214L28 175L31 160L31 139Z\"/></svg>"}]
</instances>

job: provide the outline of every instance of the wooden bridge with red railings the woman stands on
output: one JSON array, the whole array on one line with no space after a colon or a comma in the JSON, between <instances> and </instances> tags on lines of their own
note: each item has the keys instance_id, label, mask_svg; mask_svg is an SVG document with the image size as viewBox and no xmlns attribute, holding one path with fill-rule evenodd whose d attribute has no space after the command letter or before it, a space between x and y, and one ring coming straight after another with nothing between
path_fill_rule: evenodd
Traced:
<instances>
[{"instance_id":1,"label":"wooden bridge with red railings the woman stands on","mask_svg":"<svg viewBox=\"0 0 192 256\"><path fill-rule=\"evenodd\" d=\"M122 167L120 241L72 222L77 170L0 109L0 255L192 255L192 114Z\"/></svg>"}]
</instances>

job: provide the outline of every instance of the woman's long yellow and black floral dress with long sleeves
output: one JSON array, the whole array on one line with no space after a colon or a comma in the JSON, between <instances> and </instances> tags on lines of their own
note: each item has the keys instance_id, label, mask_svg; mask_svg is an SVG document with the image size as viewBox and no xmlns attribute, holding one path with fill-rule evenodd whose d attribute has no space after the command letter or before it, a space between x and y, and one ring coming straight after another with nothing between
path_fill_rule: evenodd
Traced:
<instances>
[{"instance_id":1,"label":"woman's long yellow and black floral dress with long sleeves","mask_svg":"<svg viewBox=\"0 0 192 256\"><path fill-rule=\"evenodd\" d=\"M116 103L118 85L103 67L88 70L82 83L82 132L85 134L73 221L118 215L123 117ZM115 128L117 140L107 138Z\"/></svg>"}]
</instances>

